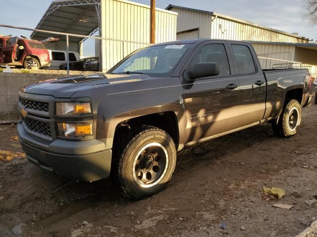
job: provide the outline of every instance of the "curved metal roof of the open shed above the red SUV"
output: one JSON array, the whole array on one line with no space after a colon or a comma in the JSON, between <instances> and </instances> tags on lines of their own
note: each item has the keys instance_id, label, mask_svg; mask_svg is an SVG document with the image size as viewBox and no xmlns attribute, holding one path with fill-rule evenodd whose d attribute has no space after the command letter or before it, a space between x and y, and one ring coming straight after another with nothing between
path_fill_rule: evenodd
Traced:
<instances>
[{"instance_id":1,"label":"curved metal roof of the open shed above the red SUV","mask_svg":"<svg viewBox=\"0 0 317 237\"><path fill-rule=\"evenodd\" d=\"M99 29L100 0L54 0L35 29L91 36ZM44 40L49 33L32 32L31 39ZM85 38L69 37L80 42Z\"/></svg>"}]
</instances>

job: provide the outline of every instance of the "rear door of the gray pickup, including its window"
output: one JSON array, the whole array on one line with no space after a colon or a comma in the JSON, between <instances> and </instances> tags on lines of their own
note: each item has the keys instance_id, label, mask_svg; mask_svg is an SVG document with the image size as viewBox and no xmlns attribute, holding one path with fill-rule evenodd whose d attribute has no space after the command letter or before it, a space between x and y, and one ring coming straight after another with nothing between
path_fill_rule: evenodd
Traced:
<instances>
[{"instance_id":1,"label":"rear door of the gray pickup, including its window","mask_svg":"<svg viewBox=\"0 0 317 237\"><path fill-rule=\"evenodd\" d=\"M250 44L229 42L229 45L240 84L238 127L242 127L264 118L266 80Z\"/></svg>"}]
</instances>

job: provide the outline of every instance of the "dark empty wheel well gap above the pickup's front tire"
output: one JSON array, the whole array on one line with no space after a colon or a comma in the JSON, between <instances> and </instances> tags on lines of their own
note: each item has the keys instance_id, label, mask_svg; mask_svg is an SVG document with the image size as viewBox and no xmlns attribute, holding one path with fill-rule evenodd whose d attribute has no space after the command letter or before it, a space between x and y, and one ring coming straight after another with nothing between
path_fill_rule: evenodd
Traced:
<instances>
[{"instance_id":1,"label":"dark empty wheel well gap above the pickup's front tire","mask_svg":"<svg viewBox=\"0 0 317 237\"><path fill-rule=\"evenodd\" d=\"M179 142L177 118L175 113L171 111L140 116L120 122L115 128L114 141L118 139L120 127L131 129L142 125L158 127L171 136L175 145Z\"/></svg>"}]
</instances>

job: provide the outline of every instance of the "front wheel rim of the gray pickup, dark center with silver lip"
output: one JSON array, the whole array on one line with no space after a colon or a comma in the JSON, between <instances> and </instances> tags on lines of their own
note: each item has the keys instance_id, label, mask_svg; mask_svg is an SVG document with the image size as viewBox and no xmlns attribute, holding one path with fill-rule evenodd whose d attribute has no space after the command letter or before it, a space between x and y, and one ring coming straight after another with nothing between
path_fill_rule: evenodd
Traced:
<instances>
[{"instance_id":1,"label":"front wheel rim of the gray pickup, dark center with silver lip","mask_svg":"<svg viewBox=\"0 0 317 237\"><path fill-rule=\"evenodd\" d=\"M150 143L140 149L133 162L134 181L143 188L150 188L164 177L168 166L167 151L159 143Z\"/></svg>"}]
</instances>

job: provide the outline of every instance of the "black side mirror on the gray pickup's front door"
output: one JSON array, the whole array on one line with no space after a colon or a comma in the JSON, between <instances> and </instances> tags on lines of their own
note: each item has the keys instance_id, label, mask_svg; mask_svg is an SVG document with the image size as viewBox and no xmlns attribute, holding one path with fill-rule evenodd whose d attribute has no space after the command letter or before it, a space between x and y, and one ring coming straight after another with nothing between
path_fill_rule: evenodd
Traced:
<instances>
[{"instance_id":1,"label":"black side mirror on the gray pickup's front door","mask_svg":"<svg viewBox=\"0 0 317 237\"><path fill-rule=\"evenodd\" d=\"M188 72L191 79L217 76L219 75L219 66L217 63L197 63L193 69Z\"/></svg>"}]
</instances>

